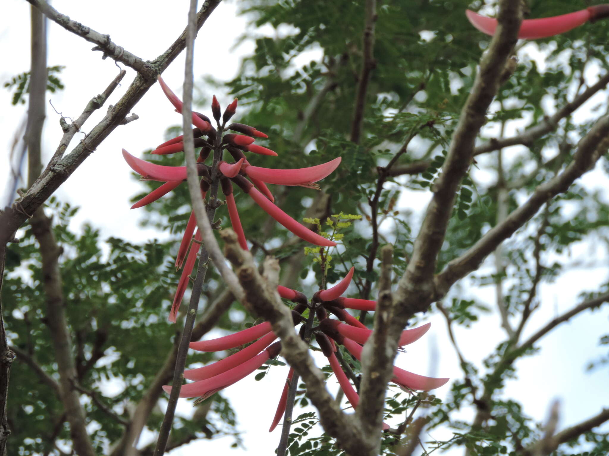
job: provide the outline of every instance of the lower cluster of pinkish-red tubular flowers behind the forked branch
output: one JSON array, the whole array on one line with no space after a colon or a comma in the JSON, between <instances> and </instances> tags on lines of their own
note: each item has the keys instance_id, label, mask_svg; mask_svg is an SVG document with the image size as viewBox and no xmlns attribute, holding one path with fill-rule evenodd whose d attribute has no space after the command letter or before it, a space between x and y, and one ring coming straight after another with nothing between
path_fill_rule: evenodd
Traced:
<instances>
[{"instance_id":1,"label":"lower cluster of pinkish-red tubular flowers behind the forked branch","mask_svg":"<svg viewBox=\"0 0 609 456\"><path fill-rule=\"evenodd\" d=\"M305 309L314 311L319 325L313 332L315 340L322 350L323 354L328 358L334 375L340 384L341 389L345 393L351 406L357 407L359 396L353 385L345 375L340 363L336 357L336 344L343 345L345 349L351 353L354 358L361 360L362 345L365 344L368 337L372 334L365 325L363 325L355 317L351 316L345 309L359 309L374 311L376 302L366 299L354 299L342 297L341 295L347 291L347 288L353 277L353 268L337 285L332 288L315 292L309 303L305 295L294 289L289 289L284 286L279 286L277 291L283 299L290 300L296 305L292 310L294 324L303 322L301 314ZM336 319L328 317L328 313L334 314ZM344 322L344 323L343 323ZM412 344L418 340L423 334L429 330L431 323L402 331L399 345ZM301 326L301 331L305 325ZM302 335L303 333L301 333ZM183 385L180 390L181 398L208 398L214 395L221 389L230 386L245 376L249 375L257 368L261 367L264 362L278 355L281 350L280 342L273 342L277 336L273 333L270 323L265 322L246 330L239 331L235 334L219 337L211 340L201 340L199 342L191 342L190 348L197 351L222 351L230 350L231 348L240 347L248 344L242 350L231 354L227 358L214 362L195 369L185 370L184 377L189 380L194 380L193 383ZM290 368L287 375L287 382L281 394L280 402L277 407L275 417L270 426L271 432L281 420L281 416L286 408L287 390L289 383L294 375L294 369ZM399 367L393 367L392 382L400 385L408 390L432 390L445 384L448 378L431 378L403 370ZM171 386L164 386L163 389L171 392ZM386 425L385 425L386 427Z\"/></svg>"}]
</instances>

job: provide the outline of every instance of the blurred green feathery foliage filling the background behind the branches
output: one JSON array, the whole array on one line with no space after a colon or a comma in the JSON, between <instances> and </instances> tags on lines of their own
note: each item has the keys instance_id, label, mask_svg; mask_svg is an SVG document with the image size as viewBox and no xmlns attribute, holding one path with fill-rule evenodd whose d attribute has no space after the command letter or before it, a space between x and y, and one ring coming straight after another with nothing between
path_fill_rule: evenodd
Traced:
<instances>
[{"instance_id":1,"label":"blurred green feathery foliage filling the background behind the branches","mask_svg":"<svg viewBox=\"0 0 609 456\"><path fill-rule=\"evenodd\" d=\"M531 17L562 14L589 5L581 0L529 3ZM322 192L283 186L272 191L290 216L340 240L344 249L326 252L294 240L272 219L261 217L249 198L236 193L256 260L267 254L279 258L284 285L305 292L319 289L320 283L334 283L355 266L353 297L374 299L378 292L379 247L387 243L394 246L394 285L404 274L420 226L421 213L413 203L421 206L419 202L428 201L442 176L460 111L474 83L477 62L490 41L463 17L466 8L481 6L481 2L470 4L464 0L378 2L375 69L368 85L364 134L359 143L354 143L350 131L362 66L364 1L240 3L242 13L252 22L241 40L253 40L255 50L243 59L241 71L233 80L224 83L208 78L207 85L200 88L202 93L211 95L211 88L224 85L231 95L239 97L240 106L247 107L239 122L273 138L273 149L279 156L257 157L256 165L300 168L342 157L337 171L322 182ZM596 81L589 72L609 71L606 22L588 24L537 44L519 43L518 64L491 105L481 139L499 137L499 131L510 132L503 136L513 136L516 131L543 125L547 116ZM270 32L264 35L261 30ZM53 68L49 69L49 90L61 89L60 81L51 80L51 74L60 67ZM27 73L5 86L16 89L13 104L24 102ZM573 160L577 143L600 116L600 109L604 109L604 102L595 99L586 105L585 112L561 120L550 133L526 146L477 156L456 195L437 271L501 223L502 214L520 207L541 184L564 170ZM177 134L177 127L169 128L167 138ZM182 165L181 156L145 158L163 165ZM379 173L394 158L394 168L422 163L423 170L389 175L379 186ZM445 297L443 306L432 306L428 314L413 320L444 315L451 327L467 328L468 337L474 339L481 331L481 320L489 314L500 314L501 306L513 331L523 330L525 323L533 325L529 316L541 306L552 305L541 300L541 286L556 286L568 272L582 266L572 260L574 252L582 246L593 246L593 253L586 259L597 265L602 252L607 251L607 157L601 163L594 170L599 185L583 179L571 185L568 192L554 198L502 244L495 264L488 260ZM132 201L158 185L143 182L142 193L133 196ZM190 212L188 200L185 185L176 188L146 207L143 225L181 233ZM81 363L79 384L95 391L107 407L126 418L128 406L141 400L176 337L174 328L164 322L177 282L172 267L175 242L135 245L110 238L102 243L94 227L85 226L78 233L69 229L69 219L76 209L57 201L49 206L55 215L55 235L64 249L60 265L69 329L76 342L76 359ZM217 216L228 219L225 206L219 208ZM375 223L379 227L376 231ZM9 275L2 293L10 342L55 378L57 367L44 324L40 254L29 228L21 243L8 252ZM496 300L482 295L488 286L501 290ZM587 300L607 292L609 283L571 286L576 286L581 299ZM222 291L224 286L210 269L205 303ZM371 324L365 314L360 318ZM251 320L242 306L233 303L219 327L235 330L247 326L241 321L247 319ZM449 433L441 440L421 435L424 454L466 450L470 456L518 456L543 438L544 423L527 415L527 404L504 388L509 379L518 376L516 361L540 354L540 345L535 342L521 348L522 337L516 340L518 337L499 325L495 331L501 333L501 342L488 344L483 362L470 361L466 356L459 360L459 377L452 379L443 401L426 393L388 393L386 416L403 426L397 435L384 435L382 454L395 454L396 445L404 442L404 433L411 429L412 413L417 409L428 417L430 432L443 432L443 436ZM600 343L606 348L609 344L607 334L588 336L590 347ZM457 348L459 340L454 345ZM607 356L593 360L586 354L581 356L594 370L606 369L609 364ZM206 355L197 362L211 358L211 354ZM359 370L356 360L347 354L345 358L351 368ZM579 368L574 360L568 362ZM269 365L273 363L281 361ZM257 380L267 380L269 365L257 372ZM110 382L119 382L121 390L114 395L104 392L104 385ZM48 387L40 385L26 364L15 362L12 385L9 454L53 451L56 438L68 443L61 402ZM88 420L96 423L92 426L96 429L96 449L107 451L121 437L123 428L88 396L83 397ZM222 393L208 400L213 406L203 420L175 418L178 440L237 434L236 416ZM308 399L300 395L297 404L306 406ZM301 410L295 415L289 434L290 455L343 454L333 438L320 429L315 412ZM156 430L159 423L160 414L155 412L148 427ZM608 450L607 433L594 429L568 441L553 454L600 456Z\"/></svg>"}]
</instances>

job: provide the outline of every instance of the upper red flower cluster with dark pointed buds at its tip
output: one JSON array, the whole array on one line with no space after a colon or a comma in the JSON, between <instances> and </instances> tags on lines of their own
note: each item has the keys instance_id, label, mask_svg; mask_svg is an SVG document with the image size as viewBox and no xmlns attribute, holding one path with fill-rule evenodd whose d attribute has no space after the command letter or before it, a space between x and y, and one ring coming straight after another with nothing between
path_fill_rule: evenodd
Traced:
<instances>
[{"instance_id":1,"label":"upper red flower cluster with dark pointed buds at its tip","mask_svg":"<svg viewBox=\"0 0 609 456\"><path fill-rule=\"evenodd\" d=\"M171 91L171 89L169 89L161 77L158 78L158 81L164 94L172 105L174 105L175 111L181 112L183 107L181 100ZM298 185L306 188L319 188L315 182L326 178L326 176L336 170L340 164L340 157L309 168L273 169L253 166L248 161L245 153L251 152L267 156L276 156L277 154L273 150L254 144L257 138L268 137L261 131L256 130L256 128L243 123L231 123L225 127L225 123L227 123L236 112L236 108L237 98L235 98L225 109L224 114L221 116L223 123L220 125L220 104L214 95L211 103L211 111L214 119L217 121L217 131L213 128L211 120L207 116L200 114L199 112L194 112L192 114L192 123L196 128L188 134L191 134L192 137L194 137L194 146L196 148L201 148L197 159L197 172L201 178L200 185L202 198L205 199L206 192L209 190L211 176L219 175L222 193L224 193L226 199L228 218L230 219L234 232L237 233L239 245L244 250L248 249L247 238L245 237L244 230L241 226L241 220L239 219L239 213L233 195L233 184L237 185L241 188L242 192L250 196L262 210L301 239L317 246L335 246L336 243L309 230L276 206L274 204L273 195L266 184ZM227 130L236 131L237 133L227 133L223 135L224 131ZM214 147L220 147L222 150L228 151L228 153L233 156L234 162L228 163L219 161L212 166L206 165L205 161ZM155 155L166 155L183 151L184 135L180 135L158 145L151 153ZM153 164L134 157L126 150L122 151L122 155L132 170L140 174L143 180L164 182L160 187L133 204L132 209L146 206L146 204L156 201L186 180L186 167L171 167ZM213 170L212 167L217 167L217 169ZM175 322L177 318L180 303L186 292L186 288L188 288L189 275L192 272L192 268L194 268L197 255L199 254L201 236L198 231L195 233L196 225L197 221L194 212L192 212L188 219L188 223L186 224L186 230L175 260L176 268L180 269L184 266L184 269L169 313L169 320L171 322ZM194 243L192 242L193 235Z\"/></svg>"}]
</instances>

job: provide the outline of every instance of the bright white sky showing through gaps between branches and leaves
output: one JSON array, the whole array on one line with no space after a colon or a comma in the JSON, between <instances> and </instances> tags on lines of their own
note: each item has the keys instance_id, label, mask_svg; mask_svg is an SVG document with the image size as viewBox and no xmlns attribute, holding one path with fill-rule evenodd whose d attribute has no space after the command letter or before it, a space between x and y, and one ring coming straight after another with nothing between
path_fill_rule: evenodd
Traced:
<instances>
[{"instance_id":1,"label":"bright white sky showing through gaps between branches and leaves","mask_svg":"<svg viewBox=\"0 0 609 456\"><path fill-rule=\"evenodd\" d=\"M185 0L172 2L171 7L168 7L167 2L149 1L146 2L146 8L142 7L142 2L117 0L56 0L53 5L60 12L97 32L109 33L114 43L145 60L157 57L180 34L188 9L188 1ZM5 63L0 67L0 83L29 70L29 4L23 0L4 2L3 18L9 20L0 21L0 61ZM253 43L250 42L245 42L238 49L232 49L234 39L244 30L245 25L245 19L236 16L234 1L220 4L199 33L195 46L195 78L214 75L228 79L236 74L239 58L253 50ZM236 30L236 35L231 35L228 30ZM49 66L66 66L60 75L66 89L49 96L57 111L63 112L64 116L77 117L88 100L105 89L118 72L118 68L110 59L101 60L100 52L91 52L93 44L66 32L53 22L49 22L48 39ZM210 52L213 52L216 62L213 69L207 64L210 61ZM180 56L163 74L167 84L177 94L181 93L182 75L183 57ZM127 68L122 86L114 92L107 105L116 102L124 94L133 77L134 72ZM227 97L222 96L223 94L217 95L224 106ZM24 106L10 106L10 98L11 94L2 88L0 128L4 147L0 156L0 184L3 184L9 175L7 163L10 145L26 113ZM107 105L85 123L83 131L89 131L102 118ZM203 111L208 109L204 108ZM62 185L57 196L62 201L69 201L72 205L81 207L74 223L75 228L90 221L101 229L102 238L116 236L143 242L149 238L163 238L164 234L139 227L138 221L143 212L129 209L128 199L138 192L141 186L132 180L131 171L122 160L121 148L138 156L144 149L163 142L167 126L177 125L181 119L158 86L153 86L144 95L134 112L138 114L139 120L115 130ZM62 135L58 125L59 117L49 106L43 140L43 153L46 158L52 155ZM76 139L81 137L77 134ZM599 185L596 179L585 178L583 182ZM0 190L4 191L4 188ZM0 198L4 204L5 195L0 194ZM414 198L409 198L410 206L413 209L424 208L426 197L417 193ZM586 258L590 254L589 250L590 246L579 245L569 252L569 256L571 260ZM524 337L535 332L552 317L576 305L579 302L577 294L582 289L594 290L606 280L605 268L582 268L565 274L558 285L542 285L540 296L543 305L530 319ZM467 284L468 280L463 283ZM466 297L467 293L468 291L463 292L463 297ZM476 293L478 299L485 300L493 307L493 287L477 289ZM603 370L586 373L585 365L590 359L604 354L598 347L598 339L600 334L607 331L608 315L609 312L604 309L602 312L578 316L553 331L551 336L539 344L542 348L541 354L516 363L518 379L507 382L506 396L521 401L524 411L536 419L546 416L552 400L560 398L560 427L581 421L598 413L603 406L606 407L609 404L607 373ZM421 374L433 370L438 376L460 378L456 355L446 336L445 323L437 315L431 316L429 321L432 322L432 330L412 345L407 354L401 354L397 364ZM502 332L497 331L498 327L498 316L493 313L482 317L480 322L470 329L456 328L465 357L481 365L482 359L504 338ZM438 347L438 364L429 366L428 360L432 358L434 345ZM248 454L273 454L280 430L269 435L268 428L286 373L287 367L274 367L270 376L263 381L256 382L253 376L250 376L224 392L238 413L239 429L244 432ZM329 382L333 390L336 389L334 383L334 379ZM448 390L446 385L435 393L445 398ZM183 401L180 411L189 413L190 410L189 404ZM299 412L297 410L295 413ZM470 420L471 410L463 410L462 416L463 419ZM446 437L441 431L433 432L432 435L436 438ZM142 441L146 441L146 435ZM199 451L210 451L211 454L226 451L235 456L245 454L243 449L230 449L230 443L231 438L197 441L172 452L172 455L193 454Z\"/></svg>"}]
</instances>

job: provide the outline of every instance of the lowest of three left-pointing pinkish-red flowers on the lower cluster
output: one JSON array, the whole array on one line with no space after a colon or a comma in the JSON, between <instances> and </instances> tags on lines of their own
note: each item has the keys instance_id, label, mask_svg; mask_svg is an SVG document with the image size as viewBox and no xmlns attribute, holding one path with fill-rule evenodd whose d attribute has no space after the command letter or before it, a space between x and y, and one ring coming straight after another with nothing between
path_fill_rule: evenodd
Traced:
<instances>
[{"instance_id":1,"label":"lowest of three left-pointing pinkish-red flowers on the lower cluster","mask_svg":"<svg viewBox=\"0 0 609 456\"><path fill-rule=\"evenodd\" d=\"M281 344L276 342L275 344L266 348L266 350L262 351L262 353L256 355L252 359L248 359L248 361L245 361L237 367L233 367L230 370L222 372L221 374L206 380L182 385L180 389L180 398L200 397L200 400L207 399L209 396L213 396L215 393L225 389L227 386L230 386L242 378L250 375L257 368L261 367L264 362L268 361L270 358L275 358L275 356L279 354L280 350ZM171 388L171 386L164 386L163 390L166 393L171 393Z\"/></svg>"}]
</instances>

